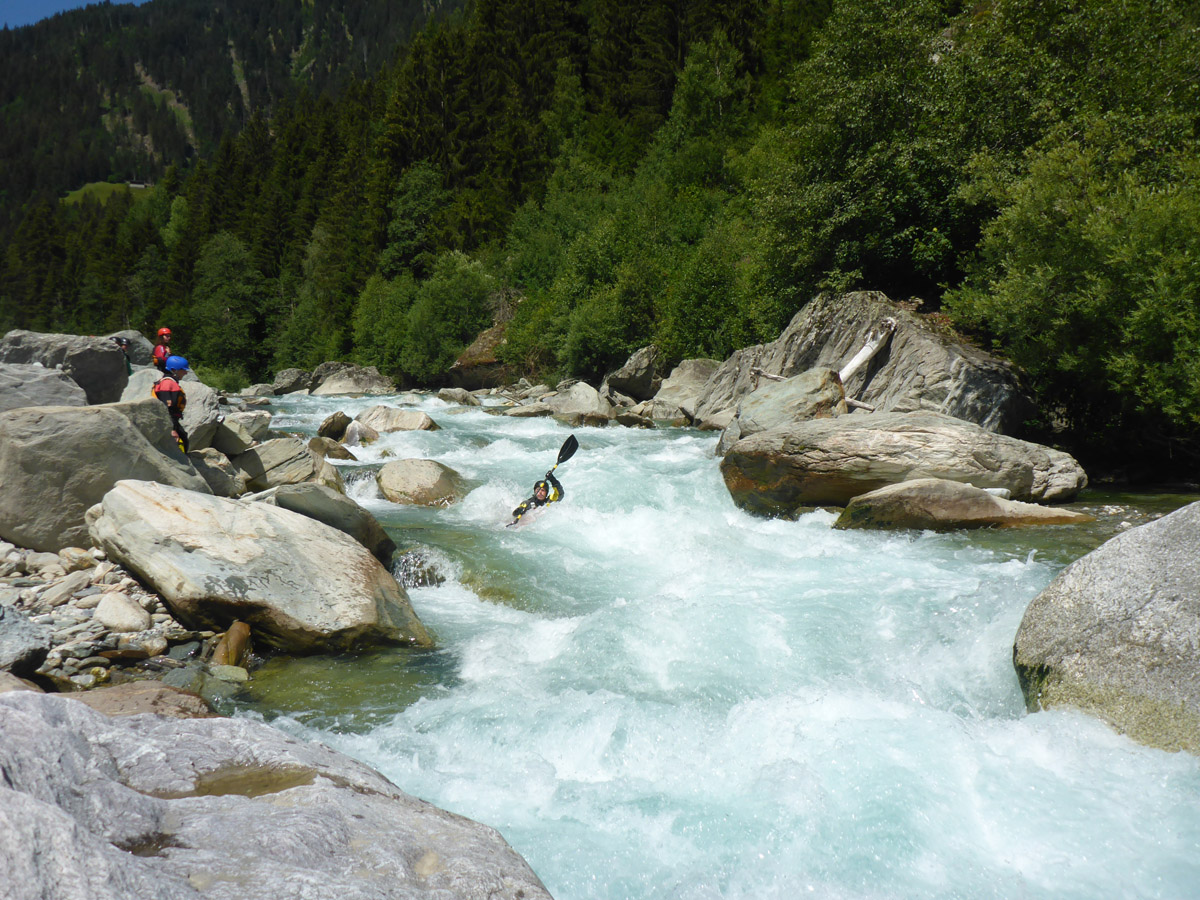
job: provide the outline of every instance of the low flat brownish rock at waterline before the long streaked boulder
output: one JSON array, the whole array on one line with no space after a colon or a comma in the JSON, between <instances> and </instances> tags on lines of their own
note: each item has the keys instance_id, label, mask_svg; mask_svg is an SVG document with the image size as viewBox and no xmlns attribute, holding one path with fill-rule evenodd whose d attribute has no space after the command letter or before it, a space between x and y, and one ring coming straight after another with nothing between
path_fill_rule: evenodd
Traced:
<instances>
[{"instance_id":1,"label":"low flat brownish rock at waterline before the long streaked boulder","mask_svg":"<svg viewBox=\"0 0 1200 900\"><path fill-rule=\"evenodd\" d=\"M859 494L846 504L834 528L958 528L1080 524L1092 516L997 497L980 487L940 478L918 478Z\"/></svg>"}]
</instances>

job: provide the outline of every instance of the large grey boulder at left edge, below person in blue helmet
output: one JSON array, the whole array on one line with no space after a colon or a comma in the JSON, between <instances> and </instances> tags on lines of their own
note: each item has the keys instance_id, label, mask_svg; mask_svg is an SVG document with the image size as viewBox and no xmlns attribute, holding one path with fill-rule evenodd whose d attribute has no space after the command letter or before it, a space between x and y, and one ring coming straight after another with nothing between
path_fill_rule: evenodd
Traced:
<instances>
[{"instance_id":1,"label":"large grey boulder at left edge, below person in blue helmet","mask_svg":"<svg viewBox=\"0 0 1200 900\"><path fill-rule=\"evenodd\" d=\"M88 546L84 514L122 479L209 491L156 400L0 413L0 538L41 551Z\"/></svg>"}]
</instances>

